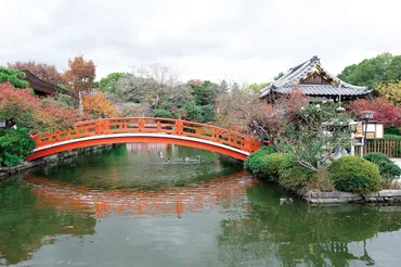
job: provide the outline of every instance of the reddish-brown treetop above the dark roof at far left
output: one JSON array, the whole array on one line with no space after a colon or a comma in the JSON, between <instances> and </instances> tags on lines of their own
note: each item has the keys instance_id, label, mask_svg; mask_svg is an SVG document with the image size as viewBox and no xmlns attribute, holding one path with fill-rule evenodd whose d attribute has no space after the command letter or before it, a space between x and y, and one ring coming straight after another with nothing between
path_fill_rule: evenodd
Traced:
<instances>
[{"instance_id":1,"label":"reddish-brown treetop above the dark roof at far left","mask_svg":"<svg viewBox=\"0 0 401 267\"><path fill-rule=\"evenodd\" d=\"M9 67L20 71L29 71L41 80L57 85L62 82L62 75L59 73L55 65L48 65L46 63L37 63L35 61L8 63Z\"/></svg>"}]
</instances>

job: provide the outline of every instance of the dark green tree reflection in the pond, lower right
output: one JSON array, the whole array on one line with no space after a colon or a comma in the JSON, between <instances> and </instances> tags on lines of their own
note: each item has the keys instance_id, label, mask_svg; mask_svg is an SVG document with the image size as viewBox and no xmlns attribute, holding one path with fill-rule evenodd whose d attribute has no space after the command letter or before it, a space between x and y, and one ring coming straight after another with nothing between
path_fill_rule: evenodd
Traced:
<instances>
[{"instance_id":1,"label":"dark green tree reflection in the pond, lower right","mask_svg":"<svg viewBox=\"0 0 401 267\"><path fill-rule=\"evenodd\" d=\"M372 265L365 241L401 228L399 207L280 205L281 195L276 189L248 189L249 214L221 221L220 258L279 260L282 266L349 266L352 260ZM361 241L362 252L350 250L351 242Z\"/></svg>"}]
</instances>

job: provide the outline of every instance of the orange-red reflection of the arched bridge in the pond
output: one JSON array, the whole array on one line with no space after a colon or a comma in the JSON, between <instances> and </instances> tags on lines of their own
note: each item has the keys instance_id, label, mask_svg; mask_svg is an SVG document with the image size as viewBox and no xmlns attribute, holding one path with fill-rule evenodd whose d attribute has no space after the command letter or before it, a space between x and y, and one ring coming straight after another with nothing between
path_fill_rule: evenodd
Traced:
<instances>
[{"instance_id":1,"label":"orange-red reflection of the arched bridge in the pond","mask_svg":"<svg viewBox=\"0 0 401 267\"><path fill-rule=\"evenodd\" d=\"M68 209L94 212L98 218L116 213L137 216L176 214L180 218L184 213L203 213L219 205L242 202L246 189L256 182L242 171L196 185L166 186L157 191L142 192L140 190L93 191L31 174L27 174L25 179L33 185L31 192L38 198L38 205L49 205L56 209L67 206Z\"/></svg>"}]
</instances>

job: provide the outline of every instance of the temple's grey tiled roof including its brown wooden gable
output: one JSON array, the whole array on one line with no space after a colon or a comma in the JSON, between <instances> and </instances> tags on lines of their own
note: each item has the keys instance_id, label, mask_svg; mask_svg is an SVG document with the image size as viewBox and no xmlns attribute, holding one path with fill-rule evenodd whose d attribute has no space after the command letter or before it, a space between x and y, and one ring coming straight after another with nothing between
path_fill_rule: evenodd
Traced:
<instances>
[{"instance_id":1,"label":"temple's grey tiled roof including its brown wooden gable","mask_svg":"<svg viewBox=\"0 0 401 267\"><path fill-rule=\"evenodd\" d=\"M288 73L275 80L270 86L260 90L261 99L268 99L274 94L290 93L299 89L311 100L349 101L365 98L372 92L366 87L352 86L323 68L320 59L312 59L289 68Z\"/></svg>"}]
</instances>

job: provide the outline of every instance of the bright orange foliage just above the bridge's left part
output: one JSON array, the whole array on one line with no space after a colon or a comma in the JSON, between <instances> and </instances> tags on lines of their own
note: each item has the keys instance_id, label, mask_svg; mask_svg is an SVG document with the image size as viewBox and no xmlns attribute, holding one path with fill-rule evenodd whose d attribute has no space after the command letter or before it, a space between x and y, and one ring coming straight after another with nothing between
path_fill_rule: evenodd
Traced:
<instances>
[{"instance_id":1,"label":"bright orange foliage just above the bridge's left part","mask_svg":"<svg viewBox=\"0 0 401 267\"><path fill-rule=\"evenodd\" d=\"M115 117L117 115L116 107L102 92L85 97L82 103L83 110L93 116L98 116L99 113L103 113L108 117Z\"/></svg>"}]
</instances>

